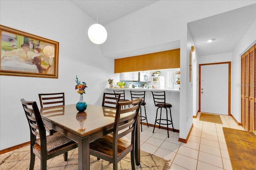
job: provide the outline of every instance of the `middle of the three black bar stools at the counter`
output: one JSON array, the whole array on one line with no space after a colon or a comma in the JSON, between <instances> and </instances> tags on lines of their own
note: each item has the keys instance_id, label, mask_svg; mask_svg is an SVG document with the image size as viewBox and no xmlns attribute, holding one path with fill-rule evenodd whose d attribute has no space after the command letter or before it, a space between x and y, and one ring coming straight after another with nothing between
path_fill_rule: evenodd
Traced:
<instances>
[{"instance_id":1,"label":"middle of the three black bar stools at the counter","mask_svg":"<svg viewBox=\"0 0 256 170\"><path fill-rule=\"evenodd\" d=\"M130 90L131 99L132 100L136 100L138 98L142 98L142 102L141 102L141 105L140 105L140 127L141 127L140 129L141 129L141 131L142 131L142 121L143 120L146 120L147 125L148 125L148 119L147 119L147 114L146 114L146 106L145 106L146 105L146 102L145 102L145 92L146 91L131 91ZM145 116L142 116L141 106L144 106Z\"/></svg>"}]
</instances>

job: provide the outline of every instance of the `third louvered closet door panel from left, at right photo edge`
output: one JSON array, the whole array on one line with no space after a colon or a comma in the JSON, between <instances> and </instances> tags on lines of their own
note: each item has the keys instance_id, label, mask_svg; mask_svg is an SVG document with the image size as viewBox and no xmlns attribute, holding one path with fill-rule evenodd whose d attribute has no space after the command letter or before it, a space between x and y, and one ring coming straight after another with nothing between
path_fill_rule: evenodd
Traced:
<instances>
[{"instance_id":1,"label":"third louvered closet door panel from left, at right photo edge","mask_svg":"<svg viewBox=\"0 0 256 170\"><path fill-rule=\"evenodd\" d=\"M255 95L255 55L254 46L249 49L249 120L248 120L248 131L254 131L254 95Z\"/></svg>"}]
</instances>

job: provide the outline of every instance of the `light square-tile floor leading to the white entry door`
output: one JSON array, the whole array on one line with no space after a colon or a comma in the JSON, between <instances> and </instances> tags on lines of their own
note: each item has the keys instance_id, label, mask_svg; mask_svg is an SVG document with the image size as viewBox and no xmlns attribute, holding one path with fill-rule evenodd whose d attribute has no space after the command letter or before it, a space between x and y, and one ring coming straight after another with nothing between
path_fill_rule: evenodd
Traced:
<instances>
[{"instance_id":1,"label":"light square-tile floor leading to the white entry door","mask_svg":"<svg viewBox=\"0 0 256 170\"><path fill-rule=\"evenodd\" d=\"M170 160L170 170L232 170L222 127L244 130L231 116L220 115L223 124L193 118L188 143L178 141L179 133L142 126L140 149Z\"/></svg>"}]
</instances>

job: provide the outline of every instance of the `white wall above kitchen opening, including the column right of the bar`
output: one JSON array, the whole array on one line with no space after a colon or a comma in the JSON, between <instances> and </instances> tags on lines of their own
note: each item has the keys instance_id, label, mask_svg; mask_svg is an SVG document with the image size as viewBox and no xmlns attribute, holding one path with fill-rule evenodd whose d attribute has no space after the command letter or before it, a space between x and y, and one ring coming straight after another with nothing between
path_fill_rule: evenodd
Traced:
<instances>
[{"instance_id":1,"label":"white wall above kitchen opening, including the column right of the bar","mask_svg":"<svg viewBox=\"0 0 256 170\"><path fill-rule=\"evenodd\" d=\"M193 89L188 83L187 23L253 3L255 1L160 0L105 25L108 30L108 39L102 47L102 53L104 56L116 58L130 57L134 56L136 51L137 55L161 51L162 49L158 50L161 45L180 40L180 79L182 80L180 84L180 138L186 139L192 123L190 115L193 109L191 98ZM169 49L174 48L170 45ZM165 50L168 50L167 47Z\"/></svg>"}]
</instances>

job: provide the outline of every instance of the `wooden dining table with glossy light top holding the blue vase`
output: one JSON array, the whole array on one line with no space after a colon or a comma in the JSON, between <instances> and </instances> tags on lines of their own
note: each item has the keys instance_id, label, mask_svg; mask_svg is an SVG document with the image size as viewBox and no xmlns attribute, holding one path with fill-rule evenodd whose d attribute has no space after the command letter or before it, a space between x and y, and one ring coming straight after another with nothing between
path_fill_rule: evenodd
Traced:
<instances>
[{"instance_id":1,"label":"wooden dining table with glossy light top holding the blue vase","mask_svg":"<svg viewBox=\"0 0 256 170\"><path fill-rule=\"evenodd\" d=\"M85 111L78 112L76 104L68 104L41 108L40 113L45 125L78 143L78 170L89 170L89 144L113 132L116 109L88 104ZM136 165L140 165L139 120L138 116L134 145Z\"/></svg>"}]
</instances>

